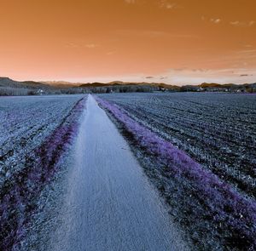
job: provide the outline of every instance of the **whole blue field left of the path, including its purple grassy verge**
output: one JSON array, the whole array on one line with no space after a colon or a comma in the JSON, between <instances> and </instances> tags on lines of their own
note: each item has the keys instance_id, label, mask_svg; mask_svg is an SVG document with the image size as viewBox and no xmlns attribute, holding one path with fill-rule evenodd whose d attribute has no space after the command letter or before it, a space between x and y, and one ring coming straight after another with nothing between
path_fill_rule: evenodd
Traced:
<instances>
[{"instance_id":1,"label":"whole blue field left of the path, including its purple grassy verge","mask_svg":"<svg viewBox=\"0 0 256 251\"><path fill-rule=\"evenodd\" d=\"M45 184L76 133L82 95L0 100L0 249L26 234Z\"/></svg>"}]
</instances>

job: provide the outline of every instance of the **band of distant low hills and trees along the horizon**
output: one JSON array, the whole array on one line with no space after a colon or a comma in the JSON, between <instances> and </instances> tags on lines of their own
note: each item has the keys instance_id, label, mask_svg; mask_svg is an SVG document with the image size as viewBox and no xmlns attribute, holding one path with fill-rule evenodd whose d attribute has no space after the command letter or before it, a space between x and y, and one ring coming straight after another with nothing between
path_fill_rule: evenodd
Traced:
<instances>
[{"instance_id":1,"label":"band of distant low hills and trees along the horizon","mask_svg":"<svg viewBox=\"0 0 256 251\"><path fill-rule=\"evenodd\" d=\"M256 92L256 83L201 83L198 85L171 85L166 83L69 83L65 81L15 81L9 77L0 77L0 95L27 94L84 94L109 92L150 92L150 91L220 91L220 92Z\"/></svg>"}]
</instances>

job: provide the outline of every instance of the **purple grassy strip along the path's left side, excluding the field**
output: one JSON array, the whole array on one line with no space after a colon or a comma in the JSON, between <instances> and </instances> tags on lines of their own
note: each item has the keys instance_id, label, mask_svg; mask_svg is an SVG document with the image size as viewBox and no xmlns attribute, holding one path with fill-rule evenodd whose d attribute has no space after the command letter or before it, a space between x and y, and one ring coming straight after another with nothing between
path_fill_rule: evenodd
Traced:
<instances>
[{"instance_id":1,"label":"purple grassy strip along the path's left side, excluding the field","mask_svg":"<svg viewBox=\"0 0 256 251\"><path fill-rule=\"evenodd\" d=\"M25 237L40 192L54 179L61 156L78 134L85 102L86 98L79 100L44 143L26 154L20 172L5 180L0 193L0 250L16 250Z\"/></svg>"}]
</instances>

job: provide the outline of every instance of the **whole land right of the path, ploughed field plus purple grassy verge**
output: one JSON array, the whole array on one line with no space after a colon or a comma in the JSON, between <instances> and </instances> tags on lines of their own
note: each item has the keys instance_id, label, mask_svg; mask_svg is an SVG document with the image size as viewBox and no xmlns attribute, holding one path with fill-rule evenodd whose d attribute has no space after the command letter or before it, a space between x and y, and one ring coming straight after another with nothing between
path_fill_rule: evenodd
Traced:
<instances>
[{"instance_id":1,"label":"whole land right of the path, ploughed field plus purple grassy verge","mask_svg":"<svg viewBox=\"0 0 256 251\"><path fill-rule=\"evenodd\" d=\"M255 248L255 95L98 97L195 244Z\"/></svg>"}]
</instances>

